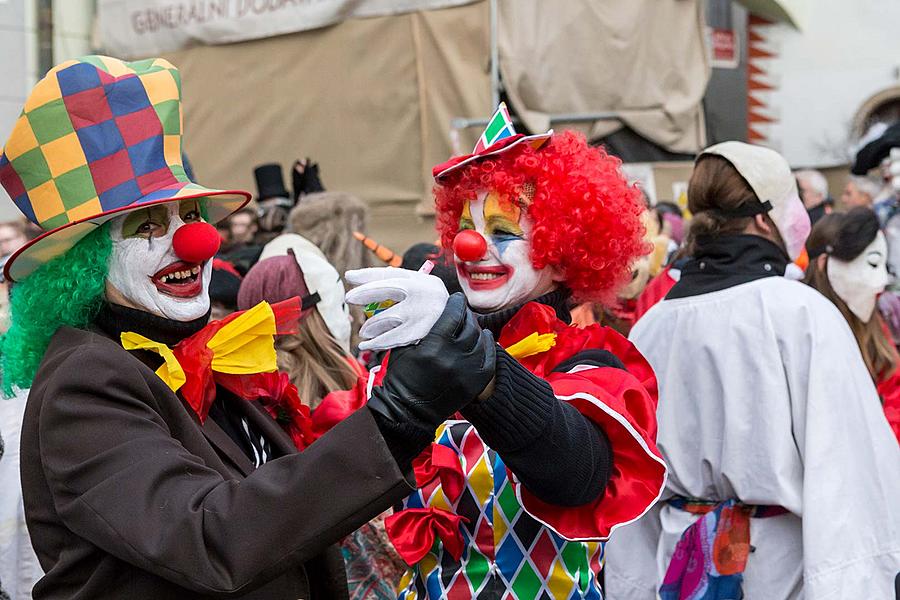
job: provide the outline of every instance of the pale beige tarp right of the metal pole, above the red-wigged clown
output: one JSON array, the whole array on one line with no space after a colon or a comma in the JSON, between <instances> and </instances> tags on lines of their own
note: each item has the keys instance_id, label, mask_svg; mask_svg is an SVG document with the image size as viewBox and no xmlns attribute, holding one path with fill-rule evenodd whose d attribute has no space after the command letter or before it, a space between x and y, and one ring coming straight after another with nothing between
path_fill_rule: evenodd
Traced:
<instances>
[{"instance_id":1,"label":"pale beige tarp right of the metal pole, above the red-wigged clown","mask_svg":"<svg viewBox=\"0 0 900 600\"><path fill-rule=\"evenodd\" d=\"M532 131L548 115L617 111L583 127L627 124L673 152L705 145L700 102L709 80L699 0L500 2L500 71ZM558 126L557 126L558 128Z\"/></svg>"}]
</instances>

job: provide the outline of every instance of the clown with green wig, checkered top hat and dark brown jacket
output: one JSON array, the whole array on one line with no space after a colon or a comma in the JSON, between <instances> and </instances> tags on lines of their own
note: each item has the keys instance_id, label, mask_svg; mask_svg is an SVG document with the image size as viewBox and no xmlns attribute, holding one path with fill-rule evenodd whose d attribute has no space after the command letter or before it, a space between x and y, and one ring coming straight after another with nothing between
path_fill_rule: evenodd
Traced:
<instances>
[{"instance_id":1,"label":"clown with green wig, checkered top hat and dark brown jacket","mask_svg":"<svg viewBox=\"0 0 900 600\"><path fill-rule=\"evenodd\" d=\"M314 430L274 348L299 299L208 322L210 222L249 194L190 180L182 123L171 64L89 56L38 82L0 154L43 230L6 263L0 342L4 391L30 388L34 598L346 598L335 543L410 493L421 448L367 409Z\"/></svg>"}]
</instances>

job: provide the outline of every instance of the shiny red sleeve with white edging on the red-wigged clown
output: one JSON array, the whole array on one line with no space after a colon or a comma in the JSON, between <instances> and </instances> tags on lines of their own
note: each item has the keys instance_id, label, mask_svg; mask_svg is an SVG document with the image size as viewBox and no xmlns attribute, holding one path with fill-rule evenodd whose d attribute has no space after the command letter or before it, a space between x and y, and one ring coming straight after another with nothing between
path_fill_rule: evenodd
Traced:
<instances>
[{"instance_id":1,"label":"shiny red sleeve with white edging on the red-wigged clown","mask_svg":"<svg viewBox=\"0 0 900 600\"><path fill-rule=\"evenodd\" d=\"M510 473L522 506L538 521L569 540L603 540L613 529L642 516L662 494L666 466L656 447L656 377L627 339L599 325L570 327L553 309L526 304L503 328L500 345L510 346L531 333L555 333L556 345L520 362L547 380L557 397L597 423L609 438L613 472L605 494L583 506L563 508L543 502ZM628 371L612 367L553 373L553 368L588 349L608 350Z\"/></svg>"}]
</instances>

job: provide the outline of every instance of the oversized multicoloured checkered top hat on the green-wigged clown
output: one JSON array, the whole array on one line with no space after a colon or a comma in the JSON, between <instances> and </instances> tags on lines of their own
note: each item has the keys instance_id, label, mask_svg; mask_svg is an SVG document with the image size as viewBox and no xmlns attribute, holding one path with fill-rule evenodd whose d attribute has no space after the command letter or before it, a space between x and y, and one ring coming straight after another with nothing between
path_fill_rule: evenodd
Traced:
<instances>
[{"instance_id":1,"label":"oversized multicoloured checkered top hat on the green-wigged clown","mask_svg":"<svg viewBox=\"0 0 900 600\"><path fill-rule=\"evenodd\" d=\"M192 182L181 159L181 78L156 58L70 60L38 82L0 155L0 184L44 230L6 263L20 280L114 216L152 204L210 199L219 221L243 191Z\"/></svg>"}]
</instances>

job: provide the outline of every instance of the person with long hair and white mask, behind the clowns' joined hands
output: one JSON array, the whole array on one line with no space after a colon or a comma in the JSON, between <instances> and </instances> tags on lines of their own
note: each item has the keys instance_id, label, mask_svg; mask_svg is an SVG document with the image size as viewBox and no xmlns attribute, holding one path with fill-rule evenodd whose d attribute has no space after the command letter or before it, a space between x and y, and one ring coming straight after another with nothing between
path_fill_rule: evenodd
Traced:
<instances>
[{"instance_id":1,"label":"person with long hair and white mask, behind the clowns' joined hands","mask_svg":"<svg viewBox=\"0 0 900 600\"><path fill-rule=\"evenodd\" d=\"M300 328L275 342L278 368L312 411L318 437L366 403L368 372L348 349L350 315L338 272L310 241L284 234L269 242L238 293L238 307L299 296ZM341 543L351 600L393 599L403 564L377 517Z\"/></svg>"}]
</instances>

